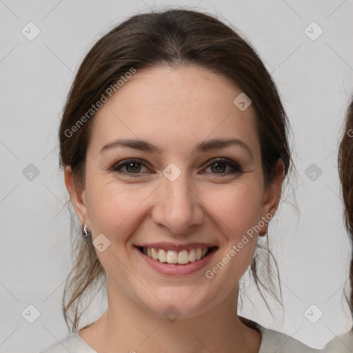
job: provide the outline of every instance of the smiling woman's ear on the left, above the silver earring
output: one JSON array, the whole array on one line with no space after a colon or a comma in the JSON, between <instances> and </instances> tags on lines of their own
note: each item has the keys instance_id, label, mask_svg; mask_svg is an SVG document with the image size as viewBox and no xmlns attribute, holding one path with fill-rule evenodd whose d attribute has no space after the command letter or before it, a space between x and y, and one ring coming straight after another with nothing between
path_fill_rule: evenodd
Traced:
<instances>
[{"instance_id":1,"label":"smiling woman's ear on the left, above the silver earring","mask_svg":"<svg viewBox=\"0 0 353 353\"><path fill-rule=\"evenodd\" d=\"M65 168L65 185L70 193L70 199L74 205L77 216L82 224L86 224L90 229L90 221L88 217L88 207L85 198L85 188L80 188L74 183L74 177L70 165Z\"/></svg>"}]
</instances>

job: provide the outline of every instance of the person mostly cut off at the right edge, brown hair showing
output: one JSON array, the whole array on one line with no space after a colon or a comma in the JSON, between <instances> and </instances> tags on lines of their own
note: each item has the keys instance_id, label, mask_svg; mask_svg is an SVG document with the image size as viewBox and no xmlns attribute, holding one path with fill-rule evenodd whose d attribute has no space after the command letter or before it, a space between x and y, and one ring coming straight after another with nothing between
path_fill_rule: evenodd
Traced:
<instances>
[{"instance_id":1,"label":"person mostly cut off at the right edge, brown hair showing","mask_svg":"<svg viewBox=\"0 0 353 353\"><path fill-rule=\"evenodd\" d=\"M352 259L350 262L350 286L351 292L348 298L350 304L350 312L353 318L353 100L351 101L347 117L345 119L345 126L343 130L343 137L339 145L339 179L341 181L341 192L344 203L344 218L345 226L350 241L352 243ZM352 353L353 352L353 327L345 334L334 337L327 343L325 353L340 352Z\"/></svg>"}]
</instances>

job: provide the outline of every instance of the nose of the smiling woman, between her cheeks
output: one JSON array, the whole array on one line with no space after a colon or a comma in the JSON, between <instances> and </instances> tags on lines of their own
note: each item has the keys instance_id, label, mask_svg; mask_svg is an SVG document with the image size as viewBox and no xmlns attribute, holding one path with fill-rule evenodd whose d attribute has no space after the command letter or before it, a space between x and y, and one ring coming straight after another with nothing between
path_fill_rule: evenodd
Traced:
<instances>
[{"instance_id":1,"label":"nose of the smiling woman, between her cheeks","mask_svg":"<svg viewBox=\"0 0 353 353\"><path fill-rule=\"evenodd\" d=\"M162 176L152 211L154 223L167 228L172 234L187 234L203 223L203 210L196 185L188 180L186 172L182 172L174 181Z\"/></svg>"}]
</instances>

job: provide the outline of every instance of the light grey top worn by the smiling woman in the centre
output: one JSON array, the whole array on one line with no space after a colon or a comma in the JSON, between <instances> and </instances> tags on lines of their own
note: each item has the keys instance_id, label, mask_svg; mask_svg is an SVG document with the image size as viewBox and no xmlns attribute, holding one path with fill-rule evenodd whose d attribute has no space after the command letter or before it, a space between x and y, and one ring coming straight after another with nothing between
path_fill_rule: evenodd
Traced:
<instances>
[{"instance_id":1,"label":"light grey top worn by the smiling woman in the centre","mask_svg":"<svg viewBox=\"0 0 353 353\"><path fill-rule=\"evenodd\" d=\"M261 333L262 340L259 353L313 353L321 352L321 350L315 350L314 348L307 347L307 345L293 339L287 334L269 330L262 327L254 321L250 321L253 327ZM60 342L50 345L39 353L98 353L92 349L77 333L70 334L68 337ZM326 351L325 351L326 352ZM329 351L327 351L329 352ZM343 351L330 351L339 352ZM346 351L344 351L346 352ZM347 351L351 352L351 351Z\"/></svg>"}]
</instances>

